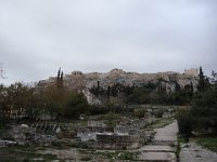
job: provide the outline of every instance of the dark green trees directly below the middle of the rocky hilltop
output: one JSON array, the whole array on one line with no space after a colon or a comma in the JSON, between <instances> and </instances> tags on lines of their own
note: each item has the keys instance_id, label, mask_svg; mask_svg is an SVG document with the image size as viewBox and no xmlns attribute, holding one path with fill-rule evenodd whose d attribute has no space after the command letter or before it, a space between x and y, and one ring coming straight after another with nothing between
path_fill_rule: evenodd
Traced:
<instances>
[{"instance_id":1,"label":"dark green trees directly below the middle of the rocky hilltop","mask_svg":"<svg viewBox=\"0 0 217 162\"><path fill-rule=\"evenodd\" d=\"M166 83L164 79L159 78L156 82L146 82L135 85L123 85L115 83L108 85L106 89L98 85L93 85L89 91L103 98L106 102L111 102L111 98L122 100L122 104L161 104L161 105L190 105L193 96L193 85L189 85L189 89L181 90L176 80L171 82L175 84L175 91L167 92Z\"/></svg>"}]
</instances>

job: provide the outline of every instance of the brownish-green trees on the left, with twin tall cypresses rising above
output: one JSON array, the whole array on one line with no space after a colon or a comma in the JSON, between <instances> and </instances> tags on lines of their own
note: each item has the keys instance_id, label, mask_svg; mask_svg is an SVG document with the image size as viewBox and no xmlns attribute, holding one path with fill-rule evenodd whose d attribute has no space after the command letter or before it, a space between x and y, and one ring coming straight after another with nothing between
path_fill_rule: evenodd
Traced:
<instances>
[{"instance_id":1,"label":"brownish-green trees on the left, with twin tall cypresses rising above","mask_svg":"<svg viewBox=\"0 0 217 162\"><path fill-rule=\"evenodd\" d=\"M82 93L67 90L63 85L63 72L59 70L56 81L43 89L16 82L0 85L0 120L7 121L13 111L25 111L29 120L47 113L51 118L77 119L88 112L88 102Z\"/></svg>"}]
</instances>

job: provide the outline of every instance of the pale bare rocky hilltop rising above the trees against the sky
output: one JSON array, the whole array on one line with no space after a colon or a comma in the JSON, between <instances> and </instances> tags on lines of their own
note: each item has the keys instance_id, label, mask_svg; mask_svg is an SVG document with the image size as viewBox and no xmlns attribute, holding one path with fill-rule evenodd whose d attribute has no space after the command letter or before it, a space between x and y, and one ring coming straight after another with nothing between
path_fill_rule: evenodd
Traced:
<instances>
[{"instance_id":1,"label":"pale bare rocky hilltop rising above the trees against the sky","mask_svg":"<svg viewBox=\"0 0 217 162\"><path fill-rule=\"evenodd\" d=\"M180 89L192 86L196 91L197 84L197 69L184 70L183 73L174 71L157 72L157 73L138 73L126 72L122 69L113 69L110 72L99 73L90 72L82 73L81 71L73 71L69 75L63 77L63 84L67 89L72 90L89 90L92 86L100 84L101 87L106 89L108 85L122 84L126 86L141 85L146 82L157 83L159 80L166 86L167 91L175 91L175 86L178 83ZM51 77L48 80L41 80L38 83L39 87L44 87L56 81L56 77Z\"/></svg>"}]
</instances>

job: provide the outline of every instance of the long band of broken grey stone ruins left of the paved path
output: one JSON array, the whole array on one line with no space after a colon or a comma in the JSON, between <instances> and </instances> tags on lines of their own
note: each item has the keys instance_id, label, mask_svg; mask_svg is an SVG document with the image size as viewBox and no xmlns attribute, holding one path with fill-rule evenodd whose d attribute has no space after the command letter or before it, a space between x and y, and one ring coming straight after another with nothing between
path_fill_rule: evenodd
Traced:
<instances>
[{"instance_id":1,"label":"long band of broken grey stone ruins left of the paved path","mask_svg":"<svg viewBox=\"0 0 217 162\"><path fill-rule=\"evenodd\" d=\"M150 114L158 109L165 108L161 106L151 106L146 108ZM170 118L174 116L176 108L167 107L166 109L167 111L163 113L163 118ZM106 126L105 121L88 121L86 127L81 125L71 125L71 123L62 125L51 123L38 123L31 124L30 126L24 124L11 125L8 132L5 132L4 137L14 139L18 145L36 144L39 146L50 146L52 141L58 138L66 137L75 141L81 141L86 144L88 148L136 149L153 138L154 131L145 130L145 126L155 121L156 118L150 116L145 119L122 120L115 127ZM2 145L5 144L9 144L9 141L2 141Z\"/></svg>"}]
</instances>

